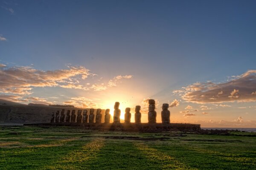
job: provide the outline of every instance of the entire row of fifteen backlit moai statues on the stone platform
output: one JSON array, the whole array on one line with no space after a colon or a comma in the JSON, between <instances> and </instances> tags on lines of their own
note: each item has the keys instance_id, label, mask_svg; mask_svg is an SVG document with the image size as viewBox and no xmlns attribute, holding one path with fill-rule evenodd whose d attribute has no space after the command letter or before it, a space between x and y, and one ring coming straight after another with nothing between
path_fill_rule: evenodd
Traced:
<instances>
[{"instance_id":1,"label":"entire row of fifteen backlit moai statues on the stone platform","mask_svg":"<svg viewBox=\"0 0 256 170\"><path fill-rule=\"evenodd\" d=\"M155 111L155 101L154 99L149 99L148 100L148 123L156 123L157 122L157 112ZM113 115L113 122L114 123L120 123L120 114L121 111L119 109L119 102L116 102L114 105L114 115ZM163 123L170 123L170 111L168 110L169 104L164 103L162 106L163 111L161 112L161 117L162 117L162 122ZM141 113L140 113L141 107L137 105L135 107L135 114L134 114L134 120L135 123L141 123ZM83 116L81 115L82 110L78 110L77 112L77 117L76 117L76 110L72 110L71 116L70 116L70 110L67 110L66 117L65 117L65 110L61 110L61 115L59 116L59 111L56 112L56 116L54 116L54 113L52 113L52 119L51 122L56 122L56 123L64 123L64 122L77 122L77 123L87 123L89 119L89 123L95 122L96 123L101 123L102 122L102 114L101 114L101 109L97 109L96 111L96 116L94 115L94 109L90 109L90 114L89 116L87 115L87 110L83 111ZM125 109L125 123L130 123L131 122L131 108L126 108ZM105 111L105 118L104 122L109 123L110 122L110 110L106 109ZM71 118L71 119L70 119Z\"/></svg>"}]
</instances>

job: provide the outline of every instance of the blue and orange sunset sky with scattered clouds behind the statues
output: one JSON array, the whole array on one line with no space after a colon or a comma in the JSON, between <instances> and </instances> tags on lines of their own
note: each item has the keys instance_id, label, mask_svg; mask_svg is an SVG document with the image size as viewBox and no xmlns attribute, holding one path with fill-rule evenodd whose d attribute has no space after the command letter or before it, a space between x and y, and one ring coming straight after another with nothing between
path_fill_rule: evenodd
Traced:
<instances>
[{"instance_id":1,"label":"blue and orange sunset sky with scattered clouds behind the statues","mask_svg":"<svg viewBox=\"0 0 256 170\"><path fill-rule=\"evenodd\" d=\"M0 0L0 99L256 127L256 1Z\"/></svg>"}]
</instances>

